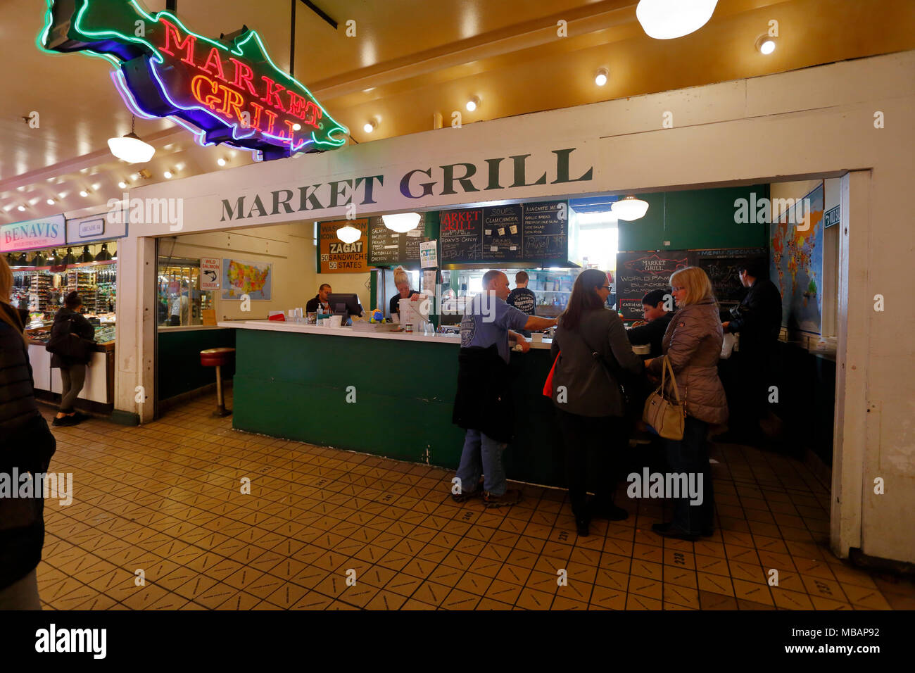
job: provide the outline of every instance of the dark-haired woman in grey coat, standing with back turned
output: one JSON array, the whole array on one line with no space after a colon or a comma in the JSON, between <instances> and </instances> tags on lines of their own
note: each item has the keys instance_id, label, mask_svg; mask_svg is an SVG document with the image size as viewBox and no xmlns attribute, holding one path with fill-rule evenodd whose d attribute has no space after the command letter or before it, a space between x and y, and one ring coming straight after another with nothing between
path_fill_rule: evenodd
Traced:
<instances>
[{"instance_id":1,"label":"dark-haired woman in grey coat, standing with back turned","mask_svg":"<svg viewBox=\"0 0 915 673\"><path fill-rule=\"evenodd\" d=\"M553 403L565 441L565 468L578 535L588 534L592 516L621 521L629 513L613 504L617 464L629 442L619 379L622 369L642 371L622 320L607 302L607 276L586 269L576 278L559 317L551 354L558 355ZM560 354L561 352L561 354ZM587 504L588 454L597 466L595 501Z\"/></svg>"}]
</instances>

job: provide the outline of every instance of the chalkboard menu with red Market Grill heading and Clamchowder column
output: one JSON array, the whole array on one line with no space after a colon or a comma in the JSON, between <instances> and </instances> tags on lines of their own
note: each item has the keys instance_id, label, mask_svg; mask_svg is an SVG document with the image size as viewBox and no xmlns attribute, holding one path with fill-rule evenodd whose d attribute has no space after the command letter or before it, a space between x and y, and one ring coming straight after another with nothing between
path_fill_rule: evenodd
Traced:
<instances>
[{"instance_id":1,"label":"chalkboard menu with red Market Grill heading and Clamchowder column","mask_svg":"<svg viewBox=\"0 0 915 673\"><path fill-rule=\"evenodd\" d=\"M441 263L568 258L568 203L544 201L438 213Z\"/></svg>"}]
</instances>

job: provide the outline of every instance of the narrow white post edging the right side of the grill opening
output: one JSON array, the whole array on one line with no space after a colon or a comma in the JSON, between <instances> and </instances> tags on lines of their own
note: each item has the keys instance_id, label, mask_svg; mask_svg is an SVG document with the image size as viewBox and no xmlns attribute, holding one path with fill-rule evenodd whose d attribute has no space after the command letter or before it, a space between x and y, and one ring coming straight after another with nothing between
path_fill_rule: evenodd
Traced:
<instances>
[{"instance_id":1,"label":"narrow white post edging the right side of the grill opening","mask_svg":"<svg viewBox=\"0 0 915 673\"><path fill-rule=\"evenodd\" d=\"M854 171L842 177L841 187L830 546L842 558L847 558L848 548L861 547L868 450L867 334L873 316L867 274L870 179L870 171Z\"/></svg>"}]
</instances>

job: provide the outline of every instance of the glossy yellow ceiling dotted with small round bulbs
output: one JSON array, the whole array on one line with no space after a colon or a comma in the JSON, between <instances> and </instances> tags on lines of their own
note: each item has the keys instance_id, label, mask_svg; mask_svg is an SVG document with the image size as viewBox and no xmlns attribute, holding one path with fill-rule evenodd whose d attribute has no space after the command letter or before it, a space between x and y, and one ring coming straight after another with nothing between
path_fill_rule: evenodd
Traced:
<instances>
[{"instance_id":1,"label":"glossy yellow ceiling dotted with small round bulbs","mask_svg":"<svg viewBox=\"0 0 915 673\"><path fill-rule=\"evenodd\" d=\"M339 27L297 5L296 79L357 142L431 129L436 113L447 125L460 110L467 124L915 49L912 0L719 0L705 27L673 40L645 35L631 0L314 1ZM178 0L178 16L213 37L254 28L288 68L291 2ZM151 11L166 5L144 4ZM117 182L135 183L131 176L144 167L108 151L107 138L130 127L110 66L39 51L43 1L3 5L0 43L10 58L0 73L0 224L119 196ZM565 38L557 36L560 19ZM755 43L772 19L779 45L765 57ZM348 20L356 37L346 35ZM609 71L604 87L594 82L601 67ZM482 103L468 113L472 95ZM38 129L21 119L33 110L41 114ZM362 125L371 119L379 124L368 135ZM244 152L197 147L167 120L137 120L136 131L158 148L145 167L153 173L148 181L164 179L167 168L178 177L218 170L218 157L228 166L250 162ZM81 189L90 197L74 196Z\"/></svg>"}]
</instances>

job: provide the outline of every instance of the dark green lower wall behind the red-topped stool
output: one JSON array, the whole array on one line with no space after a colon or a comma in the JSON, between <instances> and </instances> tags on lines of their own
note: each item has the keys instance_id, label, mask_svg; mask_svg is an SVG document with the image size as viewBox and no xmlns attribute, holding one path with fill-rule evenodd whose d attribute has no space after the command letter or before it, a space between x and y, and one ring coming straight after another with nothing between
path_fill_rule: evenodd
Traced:
<instances>
[{"instance_id":1,"label":"dark green lower wall behind the red-topped stool","mask_svg":"<svg viewBox=\"0 0 915 673\"><path fill-rule=\"evenodd\" d=\"M168 399L216 383L216 370L200 365L200 351L208 348L234 348L235 331L227 329L158 332L158 399ZM231 378L234 367L222 367L222 376Z\"/></svg>"}]
</instances>

